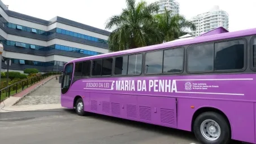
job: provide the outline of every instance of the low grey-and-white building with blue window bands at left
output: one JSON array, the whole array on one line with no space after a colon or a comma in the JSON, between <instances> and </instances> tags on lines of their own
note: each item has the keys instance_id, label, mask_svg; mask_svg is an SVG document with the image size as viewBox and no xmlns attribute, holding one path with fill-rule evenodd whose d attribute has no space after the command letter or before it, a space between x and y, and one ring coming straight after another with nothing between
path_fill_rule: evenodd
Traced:
<instances>
[{"instance_id":1,"label":"low grey-and-white building with blue window bands at left","mask_svg":"<svg viewBox=\"0 0 256 144\"><path fill-rule=\"evenodd\" d=\"M10 11L0 1L0 41L10 71L63 69L75 58L109 53L110 32L59 16L47 21ZM7 65L2 62L2 71Z\"/></svg>"}]
</instances>

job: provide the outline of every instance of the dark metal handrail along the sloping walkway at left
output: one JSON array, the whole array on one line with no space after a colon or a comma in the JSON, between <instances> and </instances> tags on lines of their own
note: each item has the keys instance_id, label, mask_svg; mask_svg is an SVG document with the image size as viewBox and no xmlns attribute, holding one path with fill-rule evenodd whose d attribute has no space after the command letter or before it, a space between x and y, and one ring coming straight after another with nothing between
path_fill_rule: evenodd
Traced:
<instances>
[{"instance_id":1,"label":"dark metal handrail along the sloping walkway at left","mask_svg":"<svg viewBox=\"0 0 256 144\"><path fill-rule=\"evenodd\" d=\"M7 97L7 93L8 93L8 98L10 98L10 93L11 93L11 87L12 86L16 86L15 90L16 90L16 93L17 93L18 92L18 84L21 83L21 90L24 90L25 86L27 86L27 88L28 88L29 80L31 80L30 81L30 85L32 86L32 84L36 84L36 82L44 80L46 77L49 77L51 75L58 75L58 74L55 73L55 72L44 73L44 74L42 74L40 76L25 78L24 80L21 80L21 81L15 82L14 84L6 86L5 88L0 90L0 102L1 102L1 95L2 95L2 91L3 90L8 90L8 91L6 91L6 97ZM23 83L25 81L27 81L27 85L23 85Z\"/></svg>"}]
</instances>

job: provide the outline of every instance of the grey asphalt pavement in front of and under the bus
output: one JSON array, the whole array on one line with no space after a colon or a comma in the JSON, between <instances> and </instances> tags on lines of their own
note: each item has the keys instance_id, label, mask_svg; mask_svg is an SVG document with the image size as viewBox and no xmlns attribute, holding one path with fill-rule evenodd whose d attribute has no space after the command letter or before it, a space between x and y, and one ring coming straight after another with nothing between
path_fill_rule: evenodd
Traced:
<instances>
[{"instance_id":1,"label":"grey asphalt pavement in front of and under the bus","mask_svg":"<svg viewBox=\"0 0 256 144\"><path fill-rule=\"evenodd\" d=\"M0 113L0 142L8 144L198 144L183 130L110 116L55 109ZM238 144L238 142L232 142Z\"/></svg>"}]
</instances>

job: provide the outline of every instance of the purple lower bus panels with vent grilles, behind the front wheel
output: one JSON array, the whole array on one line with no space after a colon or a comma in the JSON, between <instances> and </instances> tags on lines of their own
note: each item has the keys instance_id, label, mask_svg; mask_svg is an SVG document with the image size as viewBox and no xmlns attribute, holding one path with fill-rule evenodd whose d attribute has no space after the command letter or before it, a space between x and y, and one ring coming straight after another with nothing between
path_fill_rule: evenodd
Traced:
<instances>
[{"instance_id":1,"label":"purple lower bus panels with vent grilles, behind the front wheel","mask_svg":"<svg viewBox=\"0 0 256 144\"><path fill-rule=\"evenodd\" d=\"M89 110L98 114L176 128L176 99L90 93Z\"/></svg>"}]
</instances>

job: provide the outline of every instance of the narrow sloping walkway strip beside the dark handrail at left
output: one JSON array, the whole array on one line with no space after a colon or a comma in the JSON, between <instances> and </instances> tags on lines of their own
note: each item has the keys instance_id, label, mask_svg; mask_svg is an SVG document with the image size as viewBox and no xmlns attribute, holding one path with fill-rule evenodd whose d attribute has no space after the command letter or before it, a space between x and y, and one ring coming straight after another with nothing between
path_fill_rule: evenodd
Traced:
<instances>
[{"instance_id":1,"label":"narrow sloping walkway strip beside the dark handrail at left","mask_svg":"<svg viewBox=\"0 0 256 144\"><path fill-rule=\"evenodd\" d=\"M29 93L32 93L34 90L39 88L41 85L44 85L46 82L51 80L52 78L55 78L56 76L50 76L45 78L44 80L41 80L37 82L36 84L29 86L28 88L24 89L23 91L20 91L19 93L12 95L10 98L7 98L5 101L0 103L0 112L3 112L4 110L10 109L14 104L19 102L23 97L28 95ZM4 108L3 108L4 107Z\"/></svg>"}]
</instances>

